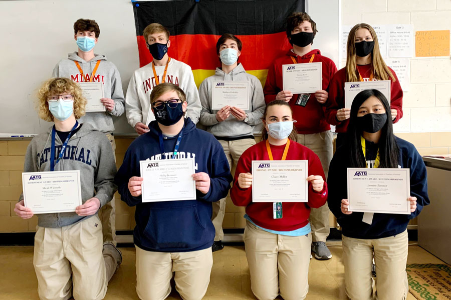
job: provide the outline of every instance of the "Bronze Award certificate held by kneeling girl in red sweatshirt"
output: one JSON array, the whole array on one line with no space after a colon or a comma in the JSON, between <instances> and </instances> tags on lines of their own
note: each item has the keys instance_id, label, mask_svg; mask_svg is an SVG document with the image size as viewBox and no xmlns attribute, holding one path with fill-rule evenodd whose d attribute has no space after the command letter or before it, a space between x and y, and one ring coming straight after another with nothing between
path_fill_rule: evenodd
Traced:
<instances>
[{"instance_id":1,"label":"Bronze Award certificate held by kneeling girl in red sweatshirt","mask_svg":"<svg viewBox=\"0 0 451 300\"><path fill-rule=\"evenodd\" d=\"M253 160L253 202L307 202L308 160Z\"/></svg>"}]
</instances>

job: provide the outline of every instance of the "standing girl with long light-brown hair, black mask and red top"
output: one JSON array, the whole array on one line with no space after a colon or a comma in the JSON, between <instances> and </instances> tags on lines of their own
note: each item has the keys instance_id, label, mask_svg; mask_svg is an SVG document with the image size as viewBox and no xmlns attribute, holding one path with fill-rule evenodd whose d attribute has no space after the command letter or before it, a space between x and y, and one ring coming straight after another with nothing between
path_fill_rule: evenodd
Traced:
<instances>
[{"instance_id":1,"label":"standing girl with long light-brown hair, black mask and red top","mask_svg":"<svg viewBox=\"0 0 451 300\"><path fill-rule=\"evenodd\" d=\"M402 89L395 72L385 64L373 27L360 23L349 31L346 66L338 70L330 82L326 102L327 121L335 125L337 146L344 143L350 108L344 107L344 83L354 81L390 80L391 117L393 123L402 117Z\"/></svg>"}]
</instances>

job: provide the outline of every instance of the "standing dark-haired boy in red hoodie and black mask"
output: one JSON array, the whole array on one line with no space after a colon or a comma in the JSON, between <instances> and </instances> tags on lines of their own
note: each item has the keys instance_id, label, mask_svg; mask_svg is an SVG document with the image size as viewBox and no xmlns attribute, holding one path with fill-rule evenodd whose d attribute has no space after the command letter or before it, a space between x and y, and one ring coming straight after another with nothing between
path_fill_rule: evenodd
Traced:
<instances>
[{"instance_id":1,"label":"standing dark-haired boy in red hoodie and black mask","mask_svg":"<svg viewBox=\"0 0 451 300\"><path fill-rule=\"evenodd\" d=\"M310 148L318 155L327 176L332 159L332 132L324 116L324 103L328 98L329 82L337 67L332 59L321 55L321 51L313 49L313 38L318 30L316 23L305 12L294 12L287 19L287 36L293 48L284 56L277 58L268 70L266 79L265 100L284 100L290 103L298 133L299 143ZM311 94L295 94L283 89L282 65L291 63L321 62L323 89ZM307 100L307 101L306 101ZM317 259L330 259L332 254L326 246L326 238L330 233L329 209L327 205L313 208L310 213L312 225L312 251Z\"/></svg>"}]
</instances>

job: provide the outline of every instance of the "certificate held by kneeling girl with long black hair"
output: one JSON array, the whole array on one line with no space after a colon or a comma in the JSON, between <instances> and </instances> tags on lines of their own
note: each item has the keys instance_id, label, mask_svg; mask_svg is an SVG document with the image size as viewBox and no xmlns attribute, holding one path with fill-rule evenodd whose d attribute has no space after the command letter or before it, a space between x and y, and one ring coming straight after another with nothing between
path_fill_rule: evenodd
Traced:
<instances>
[{"instance_id":1,"label":"certificate held by kneeling girl with long black hair","mask_svg":"<svg viewBox=\"0 0 451 300\"><path fill-rule=\"evenodd\" d=\"M348 168L350 211L410 214L408 168Z\"/></svg>"}]
</instances>

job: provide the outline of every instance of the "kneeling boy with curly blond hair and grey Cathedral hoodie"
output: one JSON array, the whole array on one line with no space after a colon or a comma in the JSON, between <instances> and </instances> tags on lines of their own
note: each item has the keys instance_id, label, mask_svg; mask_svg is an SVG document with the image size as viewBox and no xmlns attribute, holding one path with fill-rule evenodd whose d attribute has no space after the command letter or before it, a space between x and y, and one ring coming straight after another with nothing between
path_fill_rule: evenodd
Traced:
<instances>
[{"instance_id":1,"label":"kneeling boy with curly blond hair and grey Cathedral hoodie","mask_svg":"<svg viewBox=\"0 0 451 300\"><path fill-rule=\"evenodd\" d=\"M116 191L113 151L102 132L77 121L85 105L80 87L68 78L49 79L39 90L39 116L55 124L30 142L24 172L80 170L83 202L75 212L38 214L33 264L41 299L103 299L122 261L112 242L103 243L97 215ZM23 194L14 211L33 216Z\"/></svg>"}]
</instances>

